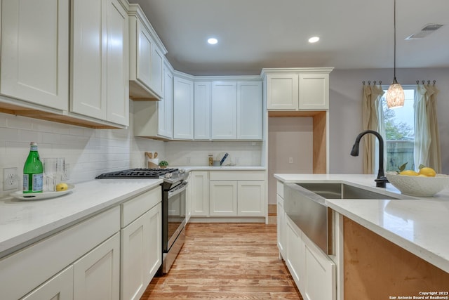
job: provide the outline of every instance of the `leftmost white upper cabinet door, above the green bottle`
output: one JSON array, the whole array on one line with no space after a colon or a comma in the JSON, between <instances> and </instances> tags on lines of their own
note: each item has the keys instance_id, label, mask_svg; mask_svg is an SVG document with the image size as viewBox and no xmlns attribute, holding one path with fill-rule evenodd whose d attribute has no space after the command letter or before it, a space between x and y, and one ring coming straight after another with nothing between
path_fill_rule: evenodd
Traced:
<instances>
[{"instance_id":1,"label":"leftmost white upper cabinet door, above the green bottle","mask_svg":"<svg viewBox=\"0 0 449 300\"><path fill-rule=\"evenodd\" d=\"M2 1L0 72L0 93L68 110L68 0Z\"/></svg>"}]
</instances>

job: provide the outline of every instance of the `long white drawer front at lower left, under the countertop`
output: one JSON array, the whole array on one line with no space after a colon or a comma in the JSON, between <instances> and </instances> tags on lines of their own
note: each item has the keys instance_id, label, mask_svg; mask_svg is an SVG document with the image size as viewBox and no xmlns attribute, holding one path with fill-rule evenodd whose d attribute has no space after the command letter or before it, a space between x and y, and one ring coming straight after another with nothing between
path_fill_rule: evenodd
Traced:
<instances>
[{"instance_id":1,"label":"long white drawer front at lower left, under the countertop","mask_svg":"<svg viewBox=\"0 0 449 300\"><path fill-rule=\"evenodd\" d=\"M19 299L120 230L114 207L0 260L1 299Z\"/></svg>"}]
</instances>

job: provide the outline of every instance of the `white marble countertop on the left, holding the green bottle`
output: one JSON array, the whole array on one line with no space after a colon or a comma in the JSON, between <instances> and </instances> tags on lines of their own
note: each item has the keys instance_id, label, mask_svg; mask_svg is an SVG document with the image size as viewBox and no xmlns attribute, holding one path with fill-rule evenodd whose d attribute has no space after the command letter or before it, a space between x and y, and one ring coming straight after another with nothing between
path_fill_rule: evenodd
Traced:
<instances>
[{"instance_id":1,"label":"white marble countertop on the left, holding the green bottle","mask_svg":"<svg viewBox=\"0 0 449 300\"><path fill-rule=\"evenodd\" d=\"M0 257L162 183L161 179L96 179L48 200L0 199Z\"/></svg>"}]
</instances>

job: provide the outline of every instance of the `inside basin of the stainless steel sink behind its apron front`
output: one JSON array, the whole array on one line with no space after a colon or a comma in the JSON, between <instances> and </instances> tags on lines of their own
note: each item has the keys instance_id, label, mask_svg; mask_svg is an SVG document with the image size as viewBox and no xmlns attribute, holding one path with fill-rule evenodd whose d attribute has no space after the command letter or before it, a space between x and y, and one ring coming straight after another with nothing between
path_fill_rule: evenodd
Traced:
<instances>
[{"instance_id":1,"label":"inside basin of the stainless steel sink behind its apron front","mask_svg":"<svg viewBox=\"0 0 449 300\"><path fill-rule=\"evenodd\" d=\"M344 183L296 183L302 188L320 195L326 199L401 199L401 197L393 197L391 195L384 195L375 193L363 188L357 188L352 185Z\"/></svg>"}]
</instances>

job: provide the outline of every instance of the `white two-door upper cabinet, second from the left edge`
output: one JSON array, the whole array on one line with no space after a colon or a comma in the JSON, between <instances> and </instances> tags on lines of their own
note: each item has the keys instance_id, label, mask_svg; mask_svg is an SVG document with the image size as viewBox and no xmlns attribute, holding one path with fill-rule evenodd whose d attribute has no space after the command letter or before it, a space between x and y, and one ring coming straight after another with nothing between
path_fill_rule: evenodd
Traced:
<instances>
[{"instance_id":1,"label":"white two-door upper cabinet, second from the left edge","mask_svg":"<svg viewBox=\"0 0 449 300\"><path fill-rule=\"evenodd\" d=\"M128 13L120 0L72 2L76 114L128 126Z\"/></svg>"}]
</instances>

